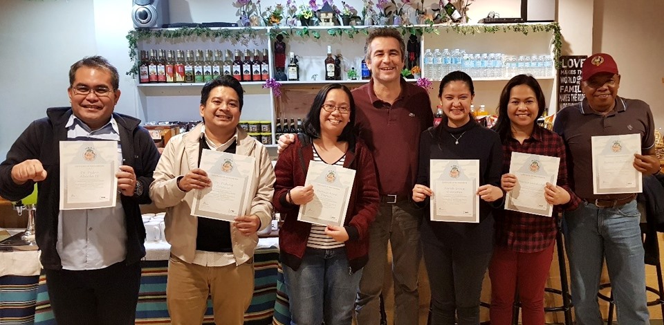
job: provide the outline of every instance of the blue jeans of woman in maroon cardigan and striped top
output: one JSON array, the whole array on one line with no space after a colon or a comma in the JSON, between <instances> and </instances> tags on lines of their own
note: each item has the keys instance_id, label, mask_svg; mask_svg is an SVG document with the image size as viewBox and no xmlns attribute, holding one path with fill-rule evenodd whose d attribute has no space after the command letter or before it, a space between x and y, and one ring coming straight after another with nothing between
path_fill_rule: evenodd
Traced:
<instances>
[{"instance_id":1,"label":"blue jeans of woman in maroon cardigan and striped top","mask_svg":"<svg viewBox=\"0 0 664 325\"><path fill-rule=\"evenodd\" d=\"M306 248L297 271L284 266L291 325L350 325L362 270L351 274L346 248Z\"/></svg>"}]
</instances>

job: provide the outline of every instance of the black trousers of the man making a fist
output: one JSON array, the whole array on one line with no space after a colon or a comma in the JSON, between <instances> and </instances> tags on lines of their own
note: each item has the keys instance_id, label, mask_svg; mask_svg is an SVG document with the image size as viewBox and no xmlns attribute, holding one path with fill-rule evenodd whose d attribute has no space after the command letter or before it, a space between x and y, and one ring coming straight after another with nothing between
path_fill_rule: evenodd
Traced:
<instances>
[{"instance_id":1,"label":"black trousers of the man making a fist","mask_svg":"<svg viewBox=\"0 0 664 325\"><path fill-rule=\"evenodd\" d=\"M140 263L100 270L44 270L59 325L129 325L136 319Z\"/></svg>"}]
</instances>

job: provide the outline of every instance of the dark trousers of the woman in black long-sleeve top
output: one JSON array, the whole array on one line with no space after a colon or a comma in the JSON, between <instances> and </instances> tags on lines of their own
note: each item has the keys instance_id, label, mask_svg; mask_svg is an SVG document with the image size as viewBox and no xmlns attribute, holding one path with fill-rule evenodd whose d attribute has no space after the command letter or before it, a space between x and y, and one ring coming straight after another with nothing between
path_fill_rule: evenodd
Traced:
<instances>
[{"instance_id":1,"label":"dark trousers of the woman in black long-sleeve top","mask_svg":"<svg viewBox=\"0 0 664 325\"><path fill-rule=\"evenodd\" d=\"M482 280L492 252L472 252L445 245L423 225L424 263L431 288L431 324L479 324Z\"/></svg>"}]
</instances>

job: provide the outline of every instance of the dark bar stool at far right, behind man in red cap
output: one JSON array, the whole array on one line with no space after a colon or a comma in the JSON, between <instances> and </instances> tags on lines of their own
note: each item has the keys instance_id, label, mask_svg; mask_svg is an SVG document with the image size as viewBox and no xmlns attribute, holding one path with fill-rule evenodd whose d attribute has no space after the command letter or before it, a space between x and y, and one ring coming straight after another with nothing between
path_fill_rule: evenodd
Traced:
<instances>
[{"instance_id":1,"label":"dark bar stool at far right, behind man in red cap","mask_svg":"<svg viewBox=\"0 0 664 325\"><path fill-rule=\"evenodd\" d=\"M647 306L657 306L660 305L662 308L662 315L664 315L664 281L662 279L662 265L659 261L659 239L657 237L656 229L652 228L647 223L641 223L641 235L643 238L643 244L652 247L652 254L646 254L645 256L645 265L654 266L657 272L657 285L659 290L649 286L645 286L645 290L651 293L654 293L658 296L657 299L647 301ZM645 235L645 236L643 236ZM611 282L607 284L600 285L600 291L606 288L611 288ZM609 302L609 314L607 315L607 325L611 325L614 322L614 294L609 293L609 296L602 294L601 292L597 293L597 297Z\"/></svg>"}]
</instances>

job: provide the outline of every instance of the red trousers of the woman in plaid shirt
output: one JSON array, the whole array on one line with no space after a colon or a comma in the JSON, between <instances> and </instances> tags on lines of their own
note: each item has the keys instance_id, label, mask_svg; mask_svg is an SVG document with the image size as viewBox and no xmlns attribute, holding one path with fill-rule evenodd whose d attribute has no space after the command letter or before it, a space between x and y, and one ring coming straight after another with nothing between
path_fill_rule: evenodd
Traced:
<instances>
[{"instance_id":1,"label":"red trousers of the woman in plaid shirt","mask_svg":"<svg viewBox=\"0 0 664 325\"><path fill-rule=\"evenodd\" d=\"M521 301L524 325L544 324L544 285L553 259L553 243L541 252L514 252L495 248L489 265L491 325L512 324L515 292Z\"/></svg>"}]
</instances>

